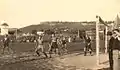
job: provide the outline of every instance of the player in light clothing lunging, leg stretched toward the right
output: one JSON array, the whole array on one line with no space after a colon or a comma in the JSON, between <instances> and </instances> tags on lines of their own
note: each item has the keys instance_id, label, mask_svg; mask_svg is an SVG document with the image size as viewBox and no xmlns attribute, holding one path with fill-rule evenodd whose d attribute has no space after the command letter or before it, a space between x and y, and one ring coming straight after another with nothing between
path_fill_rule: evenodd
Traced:
<instances>
[{"instance_id":1,"label":"player in light clothing lunging, leg stretched toward the right","mask_svg":"<svg viewBox=\"0 0 120 70\"><path fill-rule=\"evenodd\" d=\"M41 53L43 53L46 56L46 58L48 57L47 54L44 51L43 37L42 36L39 36L38 39L36 40L35 52L37 53L38 56L40 56L39 51L41 51Z\"/></svg>"}]
</instances>

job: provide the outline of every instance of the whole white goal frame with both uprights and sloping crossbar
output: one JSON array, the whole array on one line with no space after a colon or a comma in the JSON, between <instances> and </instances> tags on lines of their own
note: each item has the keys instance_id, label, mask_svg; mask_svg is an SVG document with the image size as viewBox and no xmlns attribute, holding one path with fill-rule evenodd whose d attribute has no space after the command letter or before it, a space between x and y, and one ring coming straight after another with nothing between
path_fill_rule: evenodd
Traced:
<instances>
[{"instance_id":1,"label":"whole white goal frame with both uprights and sloping crossbar","mask_svg":"<svg viewBox=\"0 0 120 70\"><path fill-rule=\"evenodd\" d=\"M99 65L100 63L100 56L99 56L99 51L100 51L100 38L99 38L99 24L102 23L105 25L105 53L108 51L108 39L107 39L107 32L108 32L108 25L105 24L105 22L100 18L100 16L96 16L96 63Z\"/></svg>"}]
</instances>

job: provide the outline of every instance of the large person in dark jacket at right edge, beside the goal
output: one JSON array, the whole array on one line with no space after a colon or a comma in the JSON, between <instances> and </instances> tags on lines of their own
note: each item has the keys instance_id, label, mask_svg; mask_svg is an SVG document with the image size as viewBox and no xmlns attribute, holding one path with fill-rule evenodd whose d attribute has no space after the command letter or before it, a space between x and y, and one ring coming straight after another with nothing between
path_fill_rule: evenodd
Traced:
<instances>
[{"instance_id":1,"label":"large person in dark jacket at right edge, beside the goal","mask_svg":"<svg viewBox=\"0 0 120 70\"><path fill-rule=\"evenodd\" d=\"M108 53L109 53L109 64L110 64L110 70L114 70L114 60L113 60L113 50L120 50L120 33L118 29L114 29L113 32L110 34L110 40L109 40L109 47L108 47Z\"/></svg>"}]
</instances>

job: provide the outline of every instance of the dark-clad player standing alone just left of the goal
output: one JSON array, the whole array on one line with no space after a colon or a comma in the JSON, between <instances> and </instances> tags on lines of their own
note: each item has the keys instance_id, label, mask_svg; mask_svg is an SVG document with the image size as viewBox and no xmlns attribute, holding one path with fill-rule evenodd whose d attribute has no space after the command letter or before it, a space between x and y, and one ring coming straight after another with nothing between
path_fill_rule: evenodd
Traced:
<instances>
[{"instance_id":1,"label":"dark-clad player standing alone just left of the goal","mask_svg":"<svg viewBox=\"0 0 120 70\"><path fill-rule=\"evenodd\" d=\"M87 52L90 52L92 55L91 39L88 35L85 36L85 47L84 47L84 56L87 55Z\"/></svg>"}]
</instances>

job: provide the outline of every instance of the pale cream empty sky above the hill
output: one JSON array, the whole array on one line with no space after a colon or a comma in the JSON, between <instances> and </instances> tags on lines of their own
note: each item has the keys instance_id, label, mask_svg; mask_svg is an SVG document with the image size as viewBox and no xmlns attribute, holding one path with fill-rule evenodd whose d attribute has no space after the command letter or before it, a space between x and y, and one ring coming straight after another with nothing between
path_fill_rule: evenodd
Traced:
<instances>
[{"instance_id":1,"label":"pale cream empty sky above the hill","mask_svg":"<svg viewBox=\"0 0 120 70\"><path fill-rule=\"evenodd\" d=\"M42 21L114 20L120 0L0 0L0 22L25 27Z\"/></svg>"}]
</instances>

